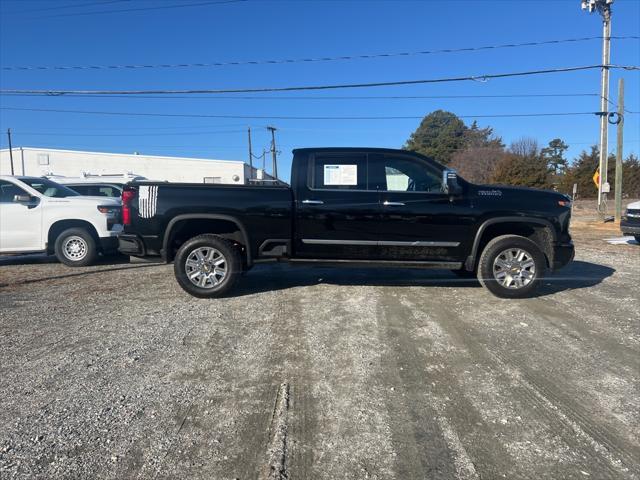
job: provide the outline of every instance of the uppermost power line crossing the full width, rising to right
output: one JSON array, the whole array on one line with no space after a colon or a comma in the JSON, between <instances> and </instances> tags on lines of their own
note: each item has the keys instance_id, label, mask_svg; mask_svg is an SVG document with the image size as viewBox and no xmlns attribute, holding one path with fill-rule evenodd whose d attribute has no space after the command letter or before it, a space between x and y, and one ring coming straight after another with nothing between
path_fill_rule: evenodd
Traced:
<instances>
[{"instance_id":1,"label":"uppermost power line crossing the full width, rising to right","mask_svg":"<svg viewBox=\"0 0 640 480\"><path fill-rule=\"evenodd\" d=\"M240 0L237 0L240 1ZM210 3L210 2L206 2ZM214 2L215 3L215 2ZM227 2L218 2L227 3ZM187 5L182 5L187 6ZM153 8L170 8L170 7L153 7ZM78 15L88 15L89 13L82 13ZM602 37L580 37L580 38L565 38L556 40L542 40L536 42L522 42L522 43L505 43L498 45L485 45L481 47L464 47L464 48L443 48L437 50L420 50L420 51L408 51L408 52L392 52L392 53L372 53L362 55L339 55L339 56L325 56L325 57L307 57L307 58L286 58L286 59L272 59L272 60L236 60L228 62L209 62L209 63L159 63L159 64L116 64L116 65L40 65L40 66L8 66L2 67L2 70L118 70L118 69L150 69L150 68L198 68L198 67L228 67L228 66L242 66L242 65L281 65L291 63L313 63L313 62L334 62L345 60L364 60L375 58L395 58L395 57L413 57L420 55L433 55L440 53L461 53L461 52L478 52L483 50L498 50L504 48L520 48L520 47L534 47L542 45L558 45L563 43L576 43L586 42L590 40L601 40ZM611 37L614 40L639 40L640 36L637 35L623 35L617 37Z\"/></svg>"}]
</instances>

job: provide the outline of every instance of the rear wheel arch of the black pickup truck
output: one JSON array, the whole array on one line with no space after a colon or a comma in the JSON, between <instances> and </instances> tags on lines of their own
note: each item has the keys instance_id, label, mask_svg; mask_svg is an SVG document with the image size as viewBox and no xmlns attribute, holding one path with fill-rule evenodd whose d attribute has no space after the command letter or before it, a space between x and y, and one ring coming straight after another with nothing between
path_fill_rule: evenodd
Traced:
<instances>
[{"instance_id":1,"label":"rear wheel arch of the black pickup truck","mask_svg":"<svg viewBox=\"0 0 640 480\"><path fill-rule=\"evenodd\" d=\"M192 227L192 225L195 225L195 223L193 222L194 220L205 220L208 221L208 223L200 224L197 227ZM226 230L225 228L221 228L224 225L233 225L234 228L231 232L215 231L216 229ZM206 228L210 226L213 228L213 231L210 228ZM187 232L191 231L191 238L203 233L212 233L218 234L223 238L237 241L238 243L241 243L245 248L244 255L246 257L247 265L251 266L253 263L251 244L249 243L249 235L243 223L238 218L232 217L231 215L208 213L177 215L169 221L162 241L162 251L160 252L162 257L166 261L170 262L171 260L173 260L175 251L172 244L174 240L178 238L180 232L183 230L186 230Z\"/></svg>"}]
</instances>

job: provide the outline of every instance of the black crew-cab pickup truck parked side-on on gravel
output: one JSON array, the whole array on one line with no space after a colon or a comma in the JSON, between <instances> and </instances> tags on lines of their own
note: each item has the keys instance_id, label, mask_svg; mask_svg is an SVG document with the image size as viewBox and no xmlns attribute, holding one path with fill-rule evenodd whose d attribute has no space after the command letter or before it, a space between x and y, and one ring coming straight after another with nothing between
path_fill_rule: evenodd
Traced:
<instances>
[{"instance_id":1,"label":"black crew-cab pickup truck parked side-on on gravel","mask_svg":"<svg viewBox=\"0 0 640 480\"><path fill-rule=\"evenodd\" d=\"M519 298L574 255L569 197L474 185L403 150L298 149L291 187L140 182L122 201L120 251L174 261L196 297L276 259L450 269Z\"/></svg>"}]
</instances>

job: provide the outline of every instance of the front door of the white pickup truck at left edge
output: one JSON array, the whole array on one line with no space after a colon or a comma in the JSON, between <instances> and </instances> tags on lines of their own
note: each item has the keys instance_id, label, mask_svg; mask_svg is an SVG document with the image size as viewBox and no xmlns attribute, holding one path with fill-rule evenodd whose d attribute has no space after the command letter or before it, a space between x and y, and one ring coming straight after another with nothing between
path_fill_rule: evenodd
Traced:
<instances>
[{"instance_id":1,"label":"front door of the white pickup truck at left edge","mask_svg":"<svg viewBox=\"0 0 640 480\"><path fill-rule=\"evenodd\" d=\"M43 250L42 206L18 203L14 200L16 195L31 196L13 183L0 180L0 251Z\"/></svg>"}]
</instances>

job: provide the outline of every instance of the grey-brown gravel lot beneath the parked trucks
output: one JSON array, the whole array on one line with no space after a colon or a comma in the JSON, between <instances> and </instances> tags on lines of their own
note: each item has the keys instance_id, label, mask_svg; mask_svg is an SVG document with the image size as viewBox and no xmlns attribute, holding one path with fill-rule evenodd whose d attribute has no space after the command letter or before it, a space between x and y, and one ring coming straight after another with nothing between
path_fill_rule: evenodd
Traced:
<instances>
[{"instance_id":1,"label":"grey-brown gravel lot beneath the parked trucks","mask_svg":"<svg viewBox=\"0 0 640 480\"><path fill-rule=\"evenodd\" d=\"M640 478L640 246L500 300L449 272L0 259L1 478Z\"/></svg>"}]
</instances>

